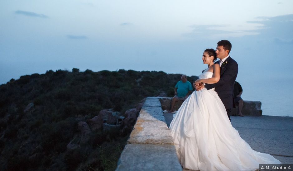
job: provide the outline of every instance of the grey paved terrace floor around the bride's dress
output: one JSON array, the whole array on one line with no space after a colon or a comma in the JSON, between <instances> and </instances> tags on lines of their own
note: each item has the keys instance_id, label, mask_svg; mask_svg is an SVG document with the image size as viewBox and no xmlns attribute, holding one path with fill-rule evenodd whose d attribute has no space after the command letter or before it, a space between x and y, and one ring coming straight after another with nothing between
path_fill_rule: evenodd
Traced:
<instances>
[{"instance_id":1,"label":"grey paved terrace floor around the bride's dress","mask_svg":"<svg viewBox=\"0 0 293 171\"><path fill-rule=\"evenodd\" d=\"M168 127L173 113L164 113ZM231 116L232 126L253 150L293 164L293 117Z\"/></svg>"}]
</instances>

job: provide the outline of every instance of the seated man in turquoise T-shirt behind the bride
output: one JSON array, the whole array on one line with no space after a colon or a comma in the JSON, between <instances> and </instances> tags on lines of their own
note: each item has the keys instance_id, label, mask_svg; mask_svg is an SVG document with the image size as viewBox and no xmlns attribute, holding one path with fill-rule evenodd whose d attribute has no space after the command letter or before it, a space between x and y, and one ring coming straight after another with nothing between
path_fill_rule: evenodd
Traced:
<instances>
[{"instance_id":1,"label":"seated man in turquoise T-shirt behind the bride","mask_svg":"<svg viewBox=\"0 0 293 171\"><path fill-rule=\"evenodd\" d=\"M180 101L180 100L185 100L187 99L187 97L192 93L192 85L189 81L187 81L187 77L186 75L182 75L181 76L181 81L178 81L177 84L175 85L175 96L172 98L172 101L171 101L171 109L169 110L169 112L173 112L175 113L174 111L174 106L175 106L175 103L177 101Z\"/></svg>"}]
</instances>

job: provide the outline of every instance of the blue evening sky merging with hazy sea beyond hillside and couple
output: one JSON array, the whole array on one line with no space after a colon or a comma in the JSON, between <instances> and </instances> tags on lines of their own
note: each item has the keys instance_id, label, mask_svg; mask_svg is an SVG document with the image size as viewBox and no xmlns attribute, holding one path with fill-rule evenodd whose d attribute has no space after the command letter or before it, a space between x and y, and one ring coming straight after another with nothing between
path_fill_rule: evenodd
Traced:
<instances>
[{"instance_id":1,"label":"blue evening sky merging with hazy sea beyond hillside and couple","mask_svg":"<svg viewBox=\"0 0 293 171\"><path fill-rule=\"evenodd\" d=\"M0 84L72 68L198 76L228 39L243 99L293 116L292 31L293 0L0 0Z\"/></svg>"}]
</instances>

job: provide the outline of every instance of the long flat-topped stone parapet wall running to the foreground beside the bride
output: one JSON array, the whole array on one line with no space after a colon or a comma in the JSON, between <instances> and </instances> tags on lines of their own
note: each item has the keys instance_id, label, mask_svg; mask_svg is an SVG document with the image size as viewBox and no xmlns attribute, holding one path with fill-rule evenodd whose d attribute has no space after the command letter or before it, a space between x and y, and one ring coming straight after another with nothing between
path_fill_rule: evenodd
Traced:
<instances>
[{"instance_id":1,"label":"long flat-topped stone parapet wall running to the foreground beside the bride","mask_svg":"<svg viewBox=\"0 0 293 171\"><path fill-rule=\"evenodd\" d=\"M146 98L116 171L182 170L159 99Z\"/></svg>"}]
</instances>

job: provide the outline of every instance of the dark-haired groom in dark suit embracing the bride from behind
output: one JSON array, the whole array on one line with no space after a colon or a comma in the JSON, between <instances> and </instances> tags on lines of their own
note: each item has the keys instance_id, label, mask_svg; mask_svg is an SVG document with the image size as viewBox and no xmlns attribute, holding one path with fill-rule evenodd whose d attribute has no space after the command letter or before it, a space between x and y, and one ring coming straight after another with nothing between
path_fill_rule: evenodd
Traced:
<instances>
[{"instance_id":1,"label":"dark-haired groom in dark suit embracing the bride from behind","mask_svg":"<svg viewBox=\"0 0 293 171\"><path fill-rule=\"evenodd\" d=\"M218 42L216 54L220 60L215 62L220 65L220 80L214 84L205 84L205 87L209 90L215 88L220 99L222 100L228 118L230 119L231 109L235 107L233 87L238 74L237 62L229 56L232 44L228 40L221 40ZM195 89L201 90L204 88L203 84L193 84Z\"/></svg>"}]
</instances>

